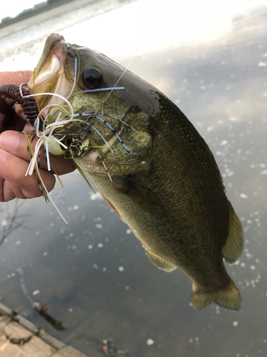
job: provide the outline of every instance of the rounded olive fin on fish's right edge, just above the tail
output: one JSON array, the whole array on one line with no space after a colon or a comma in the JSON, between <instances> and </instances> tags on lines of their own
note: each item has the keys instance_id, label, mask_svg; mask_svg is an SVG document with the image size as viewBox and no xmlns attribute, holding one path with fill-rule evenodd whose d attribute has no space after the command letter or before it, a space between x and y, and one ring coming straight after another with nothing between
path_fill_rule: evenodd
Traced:
<instances>
[{"instance_id":1,"label":"rounded olive fin on fish's right edge, just above the tail","mask_svg":"<svg viewBox=\"0 0 267 357\"><path fill-rule=\"evenodd\" d=\"M234 263L241 256L244 246L244 234L238 216L229 203L229 231L222 253L226 263Z\"/></svg>"}]
</instances>

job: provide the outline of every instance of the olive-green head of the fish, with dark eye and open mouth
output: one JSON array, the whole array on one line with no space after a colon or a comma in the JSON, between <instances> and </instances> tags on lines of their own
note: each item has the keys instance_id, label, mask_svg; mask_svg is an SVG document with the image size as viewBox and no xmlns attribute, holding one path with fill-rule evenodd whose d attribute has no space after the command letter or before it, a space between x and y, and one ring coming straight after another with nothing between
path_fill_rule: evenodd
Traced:
<instances>
[{"instance_id":1,"label":"olive-green head of the fish, with dark eye and open mouth","mask_svg":"<svg viewBox=\"0 0 267 357\"><path fill-rule=\"evenodd\" d=\"M125 168L147 162L154 136L152 121L157 117L161 94L120 64L87 47L68 44L59 34L51 34L28 87L33 94L43 94L36 96L43 116L53 108L52 121L63 101L53 94L71 103L80 125L66 127L64 134L67 139L77 139L74 157L90 154L95 166L99 161L96 148L102 146L102 154L113 171L118 164ZM70 112L70 108L66 107L66 111ZM64 142L73 147L70 141ZM73 157L73 151L69 157Z\"/></svg>"}]
</instances>

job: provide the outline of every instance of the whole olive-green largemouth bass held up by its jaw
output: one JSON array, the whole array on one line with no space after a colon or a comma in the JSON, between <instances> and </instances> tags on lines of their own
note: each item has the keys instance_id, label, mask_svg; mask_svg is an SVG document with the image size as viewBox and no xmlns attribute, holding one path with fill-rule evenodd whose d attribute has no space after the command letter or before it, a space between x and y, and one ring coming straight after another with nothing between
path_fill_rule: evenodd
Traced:
<instances>
[{"instance_id":1,"label":"whole olive-green largemouth bass held up by its jaw","mask_svg":"<svg viewBox=\"0 0 267 357\"><path fill-rule=\"evenodd\" d=\"M75 161L157 268L189 276L194 308L238 310L239 290L223 258L241 256L241 223L209 146L182 111L108 57L58 34L46 40L28 87L70 101L75 124L58 131L68 148L58 154ZM40 109L53 104L51 113L62 102L38 98Z\"/></svg>"}]
</instances>

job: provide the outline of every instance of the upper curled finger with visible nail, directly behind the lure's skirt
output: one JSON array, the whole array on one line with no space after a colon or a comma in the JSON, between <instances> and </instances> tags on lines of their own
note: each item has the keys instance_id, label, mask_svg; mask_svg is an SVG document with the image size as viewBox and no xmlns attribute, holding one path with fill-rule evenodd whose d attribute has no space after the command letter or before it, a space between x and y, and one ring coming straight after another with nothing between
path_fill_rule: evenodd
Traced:
<instances>
[{"instance_id":1,"label":"upper curled finger with visible nail, directly behind the lure's skirt","mask_svg":"<svg viewBox=\"0 0 267 357\"><path fill-rule=\"evenodd\" d=\"M33 141L33 150L37 140L38 138ZM0 135L0 149L8 151L25 161L29 161L27 148L28 140L26 136L21 133L16 131L4 131L4 133ZM55 169L58 175L63 175L75 170L73 161L66 160L63 156L53 156L49 154L49 159L51 161L51 169ZM40 167L41 169L47 169L46 155L43 150L41 151Z\"/></svg>"}]
</instances>

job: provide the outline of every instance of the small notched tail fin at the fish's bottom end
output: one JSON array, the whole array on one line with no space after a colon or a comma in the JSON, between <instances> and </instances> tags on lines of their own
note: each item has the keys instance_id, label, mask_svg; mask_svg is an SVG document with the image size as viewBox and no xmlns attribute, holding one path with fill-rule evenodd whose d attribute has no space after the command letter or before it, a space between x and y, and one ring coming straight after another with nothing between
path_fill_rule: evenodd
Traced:
<instances>
[{"instance_id":1,"label":"small notched tail fin at the fish's bottom end","mask_svg":"<svg viewBox=\"0 0 267 357\"><path fill-rule=\"evenodd\" d=\"M191 301L197 310L201 310L201 308L204 308L210 303L217 303L219 306L228 308L229 310L239 310L241 306L239 289L236 288L236 284L232 280L229 286L226 286L226 288L222 290L214 291L213 293L198 291L193 285Z\"/></svg>"}]
</instances>

